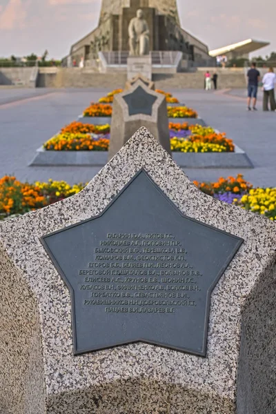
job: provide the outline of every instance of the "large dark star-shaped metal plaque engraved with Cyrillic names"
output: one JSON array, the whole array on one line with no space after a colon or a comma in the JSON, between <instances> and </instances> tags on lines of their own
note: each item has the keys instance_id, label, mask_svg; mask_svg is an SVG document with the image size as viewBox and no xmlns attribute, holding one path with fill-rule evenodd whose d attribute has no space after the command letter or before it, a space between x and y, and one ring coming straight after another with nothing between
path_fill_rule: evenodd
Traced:
<instances>
[{"instance_id":1,"label":"large dark star-shaped metal plaque engraved with Cyrillic names","mask_svg":"<svg viewBox=\"0 0 276 414\"><path fill-rule=\"evenodd\" d=\"M141 170L41 242L71 293L75 355L146 342L205 356L210 294L243 240L183 215Z\"/></svg>"}]
</instances>

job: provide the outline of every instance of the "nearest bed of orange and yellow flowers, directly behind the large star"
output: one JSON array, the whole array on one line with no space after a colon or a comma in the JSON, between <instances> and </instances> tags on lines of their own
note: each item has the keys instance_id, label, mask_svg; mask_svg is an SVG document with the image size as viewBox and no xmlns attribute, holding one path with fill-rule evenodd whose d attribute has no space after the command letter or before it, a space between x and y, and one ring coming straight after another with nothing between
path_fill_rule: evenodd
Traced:
<instances>
[{"instance_id":1,"label":"nearest bed of orange and yellow flowers, directly behind the large star","mask_svg":"<svg viewBox=\"0 0 276 414\"><path fill-rule=\"evenodd\" d=\"M221 201L235 204L276 221L276 188L253 188L242 175L219 178L213 183L194 181L199 190ZM81 191L86 184L70 186L66 181L21 183L15 177L0 179L0 219L22 215L48 206Z\"/></svg>"}]
</instances>

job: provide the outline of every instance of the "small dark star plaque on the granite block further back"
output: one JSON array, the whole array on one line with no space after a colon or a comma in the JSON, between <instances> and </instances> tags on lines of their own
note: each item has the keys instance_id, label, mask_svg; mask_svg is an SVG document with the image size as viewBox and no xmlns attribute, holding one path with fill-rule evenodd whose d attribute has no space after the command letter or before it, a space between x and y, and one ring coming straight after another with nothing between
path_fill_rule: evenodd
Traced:
<instances>
[{"instance_id":1,"label":"small dark star plaque on the granite block further back","mask_svg":"<svg viewBox=\"0 0 276 414\"><path fill-rule=\"evenodd\" d=\"M152 115L152 105L155 103L157 97L154 97L146 92L141 86L138 86L130 94L123 97L128 104L128 115Z\"/></svg>"}]
</instances>

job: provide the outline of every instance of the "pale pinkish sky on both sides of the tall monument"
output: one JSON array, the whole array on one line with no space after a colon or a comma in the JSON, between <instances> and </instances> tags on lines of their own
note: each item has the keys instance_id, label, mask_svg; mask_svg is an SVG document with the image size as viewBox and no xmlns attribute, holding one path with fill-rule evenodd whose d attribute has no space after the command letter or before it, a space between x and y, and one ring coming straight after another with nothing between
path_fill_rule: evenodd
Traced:
<instances>
[{"instance_id":1,"label":"pale pinkish sky on both sides of the tall monument","mask_svg":"<svg viewBox=\"0 0 276 414\"><path fill-rule=\"evenodd\" d=\"M101 0L0 0L0 57L31 52L59 59L96 28ZM275 0L178 0L182 27L210 50L245 39L270 41L253 55L276 51Z\"/></svg>"}]
</instances>

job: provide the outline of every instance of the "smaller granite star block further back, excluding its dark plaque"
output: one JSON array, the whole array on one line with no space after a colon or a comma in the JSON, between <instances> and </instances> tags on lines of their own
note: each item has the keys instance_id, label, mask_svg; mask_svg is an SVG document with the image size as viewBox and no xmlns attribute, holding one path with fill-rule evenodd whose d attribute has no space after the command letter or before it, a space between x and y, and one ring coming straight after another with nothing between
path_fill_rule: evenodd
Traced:
<instances>
[{"instance_id":1,"label":"smaller granite star block further back, excluding its dark plaque","mask_svg":"<svg viewBox=\"0 0 276 414\"><path fill-rule=\"evenodd\" d=\"M155 102L152 104L151 115L141 113L130 115L128 103L124 98L128 99L138 88L142 88L145 94L155 99ZM110 160L142 126L148 128L159 144L169 154L171 153L166 97L154 90L150 90L143 81L138 79L128 90L114 97L108 159Z\"/></svg>"}]
</instances>

